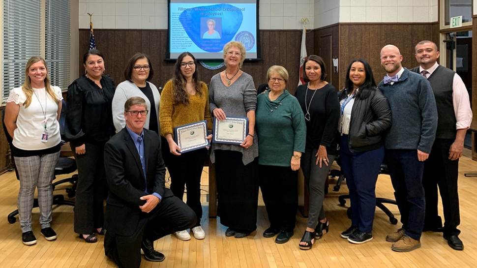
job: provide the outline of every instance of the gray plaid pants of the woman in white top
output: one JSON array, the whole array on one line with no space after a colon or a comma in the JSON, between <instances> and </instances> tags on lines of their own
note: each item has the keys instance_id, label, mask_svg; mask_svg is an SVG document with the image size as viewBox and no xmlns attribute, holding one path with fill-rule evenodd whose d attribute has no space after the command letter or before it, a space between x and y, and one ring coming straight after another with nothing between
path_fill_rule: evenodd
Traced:
<instances>
[{"instance_id":1,"label":"gray plaid pants of the woman in white top","mask_svg":"<svg viewBox=\"0 0 477 268\"><path fill-rule=\"evenodd\" d=\"M18 192L18 218L22 233L31 231L31 209L35 188L38 188L38 207L40 208L41 228L50 227L53 206L52 181L60 152L16 157L15 165L20 179Z\"/></svg>"}]
</instances>

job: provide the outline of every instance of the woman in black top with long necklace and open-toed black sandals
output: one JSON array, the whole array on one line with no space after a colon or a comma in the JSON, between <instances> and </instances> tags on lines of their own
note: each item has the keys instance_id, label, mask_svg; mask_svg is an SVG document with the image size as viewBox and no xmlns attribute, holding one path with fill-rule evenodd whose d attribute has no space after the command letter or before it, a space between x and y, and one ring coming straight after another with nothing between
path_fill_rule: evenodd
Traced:
<instances>
[{"instance_id":1,"label":"woman in black top with long necklace and open-toed black sandals","mask_svg":"<svg viewBox=\"0 0 477 268\"><path fill-rule=\"evenodd\" d=\"M310 249L316 238L328 233L328 219L323 210L325 181L336 155L339 102L336 89L325 81L325 62L316 55L303 63L305 82L295 96L300 103L306 123L306 148L301 156L301 170L310 194L306 231L300 249Z\"/></svg>"}]
</instances>

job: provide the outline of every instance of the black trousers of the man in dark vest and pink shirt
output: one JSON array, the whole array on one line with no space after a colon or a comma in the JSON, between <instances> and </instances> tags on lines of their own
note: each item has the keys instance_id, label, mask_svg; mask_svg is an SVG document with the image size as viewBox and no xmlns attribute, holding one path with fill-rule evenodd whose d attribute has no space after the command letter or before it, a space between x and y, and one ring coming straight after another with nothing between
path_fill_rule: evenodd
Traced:
<instances>
[{"instance_id":1,"label":"black trousers of the man in dark vest and pink shirt","mask_svg":"<svg viewBox=\"0 0 477 268\"><path fill-rule=\"evenodd\" d=\"M437 210L437 187L441 194L444 209L444 235L459 235L460 224L459 193L457 178L459 177L459 159L451 161L449 149L453 139L436 139L432 145L429 158L424 162L422 185L426 197L426 217L424 225L435 228L442 227L442 220Z\"/></svg>"}]
</instances>

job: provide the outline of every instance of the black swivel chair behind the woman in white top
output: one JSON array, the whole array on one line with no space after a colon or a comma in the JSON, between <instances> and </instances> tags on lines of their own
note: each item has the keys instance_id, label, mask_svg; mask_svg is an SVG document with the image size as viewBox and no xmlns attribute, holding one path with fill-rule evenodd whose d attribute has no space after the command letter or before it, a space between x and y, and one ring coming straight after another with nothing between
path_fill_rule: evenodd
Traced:
<instances>
[{"instance_id":1,"label":"black swivel chair behind the woman in white top","mask_svg":"<svg viewBox=\"0 0 477 268\"><path fill-rule=\"evenodd\" d=\"M63 145L65 142L63 140L63 134L64 134L64 118L65 118L65 113L66 113L66 103L65 101L63 100L63 104L62 104L62 108L61 108L61 115L60 115L60 133L61 133L61 145ZM3 111L1 113L1 119L2 119L2 125L3 125L3 131L5 132L5 136L6 136L6 139L7 139L7 142L8 142L8 145L10 146L10 151L12 151L12 148L13 148L13 144L12 144L12 137L8 134L8 131L5 127L5 123L4 123L4 118L5 118L5 109L6 107L3 107ZM15 170L15 175L17 176L17 179L18 178L18 171L17 171L17 168L15 166L15 160L13 158L13 156L11 156L11 166L13 167L13 169ZM63 175L63 174L70 174L72 172L76 171L76 161L75 159L72 159L72 158L69 158L69 157L60 157L58 159L58 163L55 167L55 178L57 175ZM64 182L70 182L70 183L73 183L73 187L72 188L66 188L66 192L68 193L68 197L74 197L76 195L76 182L78 180L78 175L73 175L71 178L68 178L68 179L61 179L60 181L57 181L55 183L53 183L53 190L55 190L55 186L57 186L58 184L61 184L61 183L64 183ZM72 201L68 201L68 200L64 200L64 196L63 195L54 195L53 196L53 205L68 205L68 206L72 206L74 207L75 206L75 203L72 202ZM34 199L33 201L33 208L38 208L38 199ZM11 212L10 214L8 214L8 222L9 223L15 223L16 222L16 215L18 215L18 209L16 209L15 211Z\"/></svg>"}]
</instances>

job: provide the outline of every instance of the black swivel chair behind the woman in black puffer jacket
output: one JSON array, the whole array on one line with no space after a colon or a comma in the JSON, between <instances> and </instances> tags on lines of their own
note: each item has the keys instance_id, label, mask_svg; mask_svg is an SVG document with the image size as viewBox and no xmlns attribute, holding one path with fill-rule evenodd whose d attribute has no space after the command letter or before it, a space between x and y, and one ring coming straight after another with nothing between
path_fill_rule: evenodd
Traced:
<instances>
[{"instance_id":1,"label":"black swivel chair behind the woman in black puffer jacket","mask_svg":"<svg viewBox=\"0 0 477 268\"><path fill-rule=\"evenodd\" d=\"M336 161L336 163L339 165L339 161ZM388 165L386 165L385 163L381 164L381 167L379 169L379 174L389 174ZM341 187L341 183L345 179L343 172L341 170L334 169L330 171L329 176L338 177L338 181L336 182L336 186L333 187L333 191L335 192L339 191ZM339 204L341 206L344 206L346 204L345 199L348 199L348 198L350 198L350 195L338 196ZM397 205L396 201L392 199L388 199L388 198L376 197L376 207L381 208L381 210L383 210L383 212L386 213L386 215L389 217L389 222L391 224L397 224L397 219L394 217L394 214L392 214L392 212L388 208L386 208L384 204ZM351 218L351 208L348 208L346 212L348 214L348 218Z\"/></svg>"}]
</instances>

